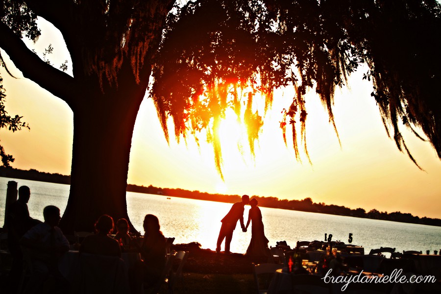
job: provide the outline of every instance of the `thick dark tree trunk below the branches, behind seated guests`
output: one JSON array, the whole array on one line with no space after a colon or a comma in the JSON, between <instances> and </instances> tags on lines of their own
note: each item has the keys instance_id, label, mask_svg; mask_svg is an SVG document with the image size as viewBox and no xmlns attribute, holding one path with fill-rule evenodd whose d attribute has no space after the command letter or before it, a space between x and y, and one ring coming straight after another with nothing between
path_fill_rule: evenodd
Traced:
<instances>
[{"instance_id":1,"label":"thick dark tree trunk below the branches, behind seated guests","mask_svg":"<svg viewBox=\"0 0 441 294\"><path fill-rule=\"evenodd\" d=\"M105 94L89 87L81 94L89 96L83 97L88 102L73 107L71 191L60 221L64 233L93 231L103 214L129 221L125 191L130 147L146 87L121 86Z\"/></svg>"}]
</instances>

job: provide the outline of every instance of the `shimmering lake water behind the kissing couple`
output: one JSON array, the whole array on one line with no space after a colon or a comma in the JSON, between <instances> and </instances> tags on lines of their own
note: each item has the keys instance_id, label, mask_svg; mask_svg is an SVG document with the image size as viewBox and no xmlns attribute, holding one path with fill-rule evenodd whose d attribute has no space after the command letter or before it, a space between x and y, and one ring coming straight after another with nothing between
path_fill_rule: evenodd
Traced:
<instances>
[{"instance_id":1,"label":"shimmering lake water behind the kissing couple","mask_svg":"<svg viewBox=\"0 0 441 294\"><path fill-rule=\"evenodd\" d=\"M0 227L4 222L4 203L7 182L10 178L0 177ZM68 196L69 185L15 180L18 187L26 185L31 190L28 203L32 218L43 220L43 208L55 205L63 213ZM127 211L133 225L142 231L146 214L159 218L161 230L166 237L175 237L174 244L199 242L202 248L216 248L221 228L221 219L231 208L230 203L203 201L178 197L158 196L127 192ZM245 206L245 222L249 206ZM365 247L365 253L372 248L395 247L402 250L441 250L441 227L378 221L352 217L334 216L319 213L291 211L261 207L265 234L272 246L285 240L291 247L297 241L323 240L324 234L332 234L332 240L348 241L353 234L355 245ZM78 212L81 213L81 212ZM251 239L251 230L243 233L237 226L231 251L245 253ZM222 244L223 250L223 244Z\"/></svg>"}]
</instances>

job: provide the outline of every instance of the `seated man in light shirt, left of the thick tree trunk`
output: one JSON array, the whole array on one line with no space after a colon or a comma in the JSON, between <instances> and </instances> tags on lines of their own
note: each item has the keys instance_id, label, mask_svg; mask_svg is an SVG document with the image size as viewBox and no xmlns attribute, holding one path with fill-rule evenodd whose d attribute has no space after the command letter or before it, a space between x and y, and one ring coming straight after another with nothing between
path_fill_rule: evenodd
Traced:
<instances>
[{"instance_id":1,"label":"seated man in light shirt, left of the thick tree trunk","mask_svg":"<svg viewBox=\"0 0 441 294\"><path fill-rule=\"evenodd\" d=\"M20 245L29 249L32 276L25 287L25 293L42 293L42 287L49 277L55 284L50 293L66 293L68 283L58 270L58 257L69 250L69 241L57 227L60 221L58 207L49 205L43 210L45 221L32 227L20 239Z\"/></svg>"}]
</instances>

